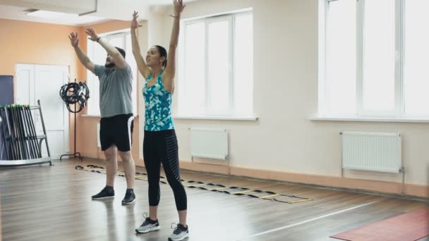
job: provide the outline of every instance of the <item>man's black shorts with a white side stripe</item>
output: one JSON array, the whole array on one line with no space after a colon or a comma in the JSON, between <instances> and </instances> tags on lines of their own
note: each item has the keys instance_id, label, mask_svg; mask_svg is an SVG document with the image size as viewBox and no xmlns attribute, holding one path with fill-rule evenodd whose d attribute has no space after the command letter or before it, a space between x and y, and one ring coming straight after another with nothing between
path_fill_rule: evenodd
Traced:
<instances>
[{"instance_id":1,"label":"man's black shorts with a white side stripe","mask_svg":"<svg viewBox=\"0 0 429 241\"><path fill-rule=\"evenodd\" d=\"M116 145L119 152L131 151L133 144L133 114L123 114L102 118L99 121L99 142L102 151Z\"/></svg>"}]
</instances>

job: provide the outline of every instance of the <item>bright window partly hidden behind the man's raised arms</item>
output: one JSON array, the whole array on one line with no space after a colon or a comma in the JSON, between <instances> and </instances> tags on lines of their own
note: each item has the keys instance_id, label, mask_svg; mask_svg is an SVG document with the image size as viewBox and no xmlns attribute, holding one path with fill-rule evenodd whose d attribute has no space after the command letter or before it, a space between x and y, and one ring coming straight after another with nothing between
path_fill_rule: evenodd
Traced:
<instances>
[{"instance_id":1,"label":"bright window partly hidden behind the man's raised arms","mask_svg":"<svg viewBox=\"0 0 429 241\"><path fill-rule=\"evenodd\" d=\"M133 49L131 45L131 33L128 30L121 32L107 33L99 35L102 39L107 40L114 47L119 47L126 52L126 62L131 67L133 73L133 114L137 112L137 65L133 57ZM104 65L106 62L107 52L99 44L87 39L87 56L95 64ZM87 85L90 89L90 99L88 99L87 114L99 115L99 80L91 71L87 71Z\"/></svg>"}]
</instances>

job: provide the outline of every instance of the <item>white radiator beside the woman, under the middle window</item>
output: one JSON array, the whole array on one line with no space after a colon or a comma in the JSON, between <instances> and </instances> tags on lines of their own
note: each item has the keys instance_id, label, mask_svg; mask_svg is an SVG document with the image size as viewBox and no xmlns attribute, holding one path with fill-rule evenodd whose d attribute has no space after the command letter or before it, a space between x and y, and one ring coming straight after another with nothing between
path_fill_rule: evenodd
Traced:
<instances>
[{"instance_id":1,"label":"white radiator beside the woman, under the middle window","mask_svg":"<svg viewBox=\"0 0 429 241\"><path fill-rule=\"evenodd\" d=\"M228 132L223 129L189 128L191 156L210 159L228 158Z\"/></svg>"}]
</instances>

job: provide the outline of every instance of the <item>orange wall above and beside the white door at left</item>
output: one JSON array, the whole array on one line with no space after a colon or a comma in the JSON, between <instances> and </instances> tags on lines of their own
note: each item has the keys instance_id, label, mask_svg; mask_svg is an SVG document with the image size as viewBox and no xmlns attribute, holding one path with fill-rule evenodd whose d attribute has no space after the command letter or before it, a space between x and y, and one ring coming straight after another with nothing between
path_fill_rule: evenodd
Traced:
<instances>
[{"instance_id":1,"label":"orange wall above and beside the white door at left","mask_svg":"<svg viewBox=\"0 0 429 241\"><path fill-rule=\"evenodd\" d=\"M80 78L78 58L68 40L69 32L78 30L79 27L68 25L0 18L0 75L13 75L13 80L16 81L16 63L34 63L68 66L70 80ZM71 150L73 149L73 125L74 119L70 118Z\"/></svg>"}]
</instances>

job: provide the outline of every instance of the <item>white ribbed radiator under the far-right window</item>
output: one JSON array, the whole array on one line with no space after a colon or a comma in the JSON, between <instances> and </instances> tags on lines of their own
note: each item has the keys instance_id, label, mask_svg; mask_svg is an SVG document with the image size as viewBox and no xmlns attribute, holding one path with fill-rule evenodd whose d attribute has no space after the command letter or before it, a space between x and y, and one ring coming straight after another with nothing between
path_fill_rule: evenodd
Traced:
<instances>
[{"instance_id":1,"label":"white ribbed radiator under the far-right window","mask_svg":"<svg viewBox=\"0 0 429 241\"><path fill-rule=\"evenodd\" d=\"M401 135L381 132L342 132L342 168L399 173Z\"/></svg>"}]
</instances>

